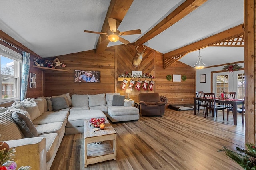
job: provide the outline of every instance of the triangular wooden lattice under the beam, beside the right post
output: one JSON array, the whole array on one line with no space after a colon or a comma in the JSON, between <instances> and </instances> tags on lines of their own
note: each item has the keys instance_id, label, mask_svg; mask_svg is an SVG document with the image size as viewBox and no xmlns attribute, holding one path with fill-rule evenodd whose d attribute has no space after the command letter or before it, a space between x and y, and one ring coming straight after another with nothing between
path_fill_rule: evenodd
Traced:
<instances>
[{"instance_id":1,"label":"triangular wooden lattice under the beam, beside the right post","mask_svg":"<svg viewBox=\"0 0 256 170\"><path fill-rule=\"evenodd\" d=\"M244 34L236 37L232 37L228 40L210 44L209 46L218 47L244 47Z\"/></svg>"}]
</instances>

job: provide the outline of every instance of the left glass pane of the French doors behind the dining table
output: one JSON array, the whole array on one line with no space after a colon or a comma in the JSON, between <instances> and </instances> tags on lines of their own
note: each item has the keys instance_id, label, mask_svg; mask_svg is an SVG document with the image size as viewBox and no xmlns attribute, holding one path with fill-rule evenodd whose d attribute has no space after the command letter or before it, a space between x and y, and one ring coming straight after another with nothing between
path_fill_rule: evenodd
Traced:
<instances>
[{"instance_id":1,"label":"left glass pane of the French doors behind the dining table","mask_svg":"<svg viewBox=\"0 0 256 170\"><path fill-rule=\"evenodd\" d=\"M228 91L228 75L216 76L216 96L220 97L220 94L224 91Z\"/></svg>"}]
</instances>

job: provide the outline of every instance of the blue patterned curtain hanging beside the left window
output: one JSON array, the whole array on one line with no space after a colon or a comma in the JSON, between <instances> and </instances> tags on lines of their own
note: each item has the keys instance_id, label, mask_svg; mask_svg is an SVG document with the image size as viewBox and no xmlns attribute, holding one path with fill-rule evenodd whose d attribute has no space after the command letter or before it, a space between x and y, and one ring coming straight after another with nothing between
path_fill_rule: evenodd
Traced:
<instances>
[{"instance_id":1,"label":"blue patterned curtain hanging beside the left window","mask_svg":"<svg viewBox=\"0 0 256 170\"><path fill-rule=\"evenodd\" d=\"M22 80L21 80L21 92L20 99L26 99L28 89L28 77L29 77L29 66L30 66L30 53L22 52Z\"/></svg>"}]
</instances>

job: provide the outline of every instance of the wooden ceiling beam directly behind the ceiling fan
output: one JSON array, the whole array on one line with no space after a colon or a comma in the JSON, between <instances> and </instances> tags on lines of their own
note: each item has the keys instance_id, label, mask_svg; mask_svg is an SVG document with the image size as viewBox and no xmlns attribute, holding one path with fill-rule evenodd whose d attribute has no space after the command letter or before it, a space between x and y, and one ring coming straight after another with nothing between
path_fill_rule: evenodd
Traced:
<instances>
[{"instance_id":1,"label":"wooden ceiling beam directly behind the ceiling fan","mask_svg":"<svg viewBox=\"0 0 256 170\"><path fill-rule=\"evenodd\" d=\"M108 12L106 14L106 18L104 20L101 32L107 32L109 30L108 25L108 17L114 18L117 20L116 22L116 29L124 19L124 16L128 12L130 6L132 5L133 0L111 0ZM106 35L100 35L98 39L98 43L96 45L96 53L103 53L108 46L108 41L105 43L100 43L104 41L106 38L108 38Z\"/></svg>"}]
</instances>

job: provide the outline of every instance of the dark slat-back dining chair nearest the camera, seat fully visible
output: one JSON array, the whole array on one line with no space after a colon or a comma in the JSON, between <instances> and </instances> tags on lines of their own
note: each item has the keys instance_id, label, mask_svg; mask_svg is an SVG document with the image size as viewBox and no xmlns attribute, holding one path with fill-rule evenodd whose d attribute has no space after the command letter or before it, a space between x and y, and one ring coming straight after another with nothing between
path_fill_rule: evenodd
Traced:
<instances>
[{"instance_id":1,"label":"dark slat-back dining chair nearest the camera, seat fully visible","mask_svg":"<svg viewBox=\"0 0 256 170\"><path fill-rule=\"evenodd\" d=\"M224 120L225 119L225 109L223 107L216 106L215 93L204 93L204 98L206 99L206 101L205 101L206 111L205 111L204 118L206 118L206 116L208 116L208 110L212 110L212 117L214 117L214 115L216 115L216 117L217 117L218 111L222 110L222 115L223 115L223 120ZM214 117L214 119L215 119L215 117Z\"/></svg>"}]
</instances>

